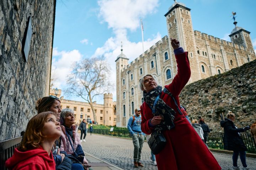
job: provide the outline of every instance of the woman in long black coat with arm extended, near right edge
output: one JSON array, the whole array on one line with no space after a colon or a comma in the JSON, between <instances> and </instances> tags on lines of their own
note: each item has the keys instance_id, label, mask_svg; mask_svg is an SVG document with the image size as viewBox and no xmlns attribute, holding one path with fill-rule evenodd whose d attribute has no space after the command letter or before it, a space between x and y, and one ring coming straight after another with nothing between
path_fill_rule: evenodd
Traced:
<instances>
[{"instance_id":1,"label":"woman in long black coat with arm extended, near right edge","mask_svg":"<svg viewBox=\"0 0 256 170\"><path fill-rule=\"evenodd\" d=\"M250 129L250 126L244 128L237 128L234 125L235 114L229 112L225 120L220 121L220 125L224 128L224 149L233 151L233 169L240 170L237 165L238 155L240 153L240 160L243 165L243 170L250 170L246 165L246 146L240 137L240 132L245 132Z\"/></svg>"}]
</instances>

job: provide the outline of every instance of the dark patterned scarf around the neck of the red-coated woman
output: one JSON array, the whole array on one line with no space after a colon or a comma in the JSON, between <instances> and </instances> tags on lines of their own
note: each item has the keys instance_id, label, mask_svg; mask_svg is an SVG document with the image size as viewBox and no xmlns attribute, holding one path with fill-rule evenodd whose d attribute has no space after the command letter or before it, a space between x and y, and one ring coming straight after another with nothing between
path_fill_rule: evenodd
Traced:
<instances>
[{"instance_id":1,"label":"dark patterned scarf around the neck of the red-coated woman","mask_svg":"<svg viewBox=\"0 0 256 170\"><path fill-rule=\"evenodd\" d=\"M162 87L157 86L155 89L151 90L150 92L143 91L144 101L148 104L148 106L152 109L156 97L162 93ZM154 116L161 116L162 120L160 126L162 130L170 130L174 128L174 116L175 111L169 107L161 98L159 98L158 102L155 105L155 114Z\"/></svg>"}]
</instances>

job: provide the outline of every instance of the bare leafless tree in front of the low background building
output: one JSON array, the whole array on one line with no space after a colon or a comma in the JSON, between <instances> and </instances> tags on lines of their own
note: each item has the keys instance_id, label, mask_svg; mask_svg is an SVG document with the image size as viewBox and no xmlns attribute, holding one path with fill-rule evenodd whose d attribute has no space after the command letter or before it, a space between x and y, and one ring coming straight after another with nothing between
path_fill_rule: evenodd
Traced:
<instances>
[{"instance_id":1,"label":"bare leafless tree in front of the low background building","mask_svg":"<svg viewBox=\"0 0 256 170\"><path fill-rule=\"evenodd\" d=\"M68 75L67 95L80 96L87 101L92 109L94 121L97 122L93 105L94 98L109 91L112 84L107 78L110 67L102 57L87 58L74 64L73 71Z\"/></svg>"}]
</instances>

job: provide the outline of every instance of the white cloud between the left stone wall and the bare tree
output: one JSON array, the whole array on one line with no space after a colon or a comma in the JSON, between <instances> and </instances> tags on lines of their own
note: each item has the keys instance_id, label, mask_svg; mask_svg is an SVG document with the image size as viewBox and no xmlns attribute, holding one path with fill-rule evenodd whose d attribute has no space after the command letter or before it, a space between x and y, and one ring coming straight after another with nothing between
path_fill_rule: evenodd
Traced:
<instances>
[{"instance_id":1,"label":"white cloud between the left stone wall and the bare tree","mask_svg":"<svg viewBox=\"0 0 256 170\"><path fill-rule=\"evenodd\" d=\"M64 89L66 85L67 75L70 74L72 70L72 65L74 62L81 60L82 55L78 50L72 51L58 51L54 48L55 54L60 56L58 59L53 58L52 60L52 78L54 87L58 89ZM62 94L63 95L63 94Z\"/></svg>"}]
</instances>

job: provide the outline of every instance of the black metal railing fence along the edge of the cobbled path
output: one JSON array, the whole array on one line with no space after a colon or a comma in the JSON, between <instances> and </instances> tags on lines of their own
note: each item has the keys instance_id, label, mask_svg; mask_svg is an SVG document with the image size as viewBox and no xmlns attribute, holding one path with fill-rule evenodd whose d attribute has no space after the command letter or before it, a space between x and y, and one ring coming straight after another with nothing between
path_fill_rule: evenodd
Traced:
<instances>
[{"instance_id":1,"label":"black metal railing fence along the edge of the cobbled path","mask_svg":"<svg viewBox=\"0 0 256 170\"><path fill-rule=\"evenodd\" d=\"M94 129L93 133L109 135L109 136L118 136L118 137L126 137L131 138L128 130L113 130L109 129ZM221 132L210 132L207 140L207 145L211 148L224 149L223 145L223 133ZM241 137L247 147L248 153L256 153L256 143L254 138L248 133L241 133Z\"/></svg>"}]
</instances>

